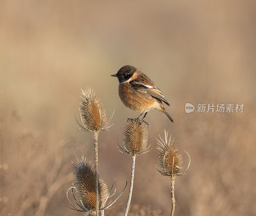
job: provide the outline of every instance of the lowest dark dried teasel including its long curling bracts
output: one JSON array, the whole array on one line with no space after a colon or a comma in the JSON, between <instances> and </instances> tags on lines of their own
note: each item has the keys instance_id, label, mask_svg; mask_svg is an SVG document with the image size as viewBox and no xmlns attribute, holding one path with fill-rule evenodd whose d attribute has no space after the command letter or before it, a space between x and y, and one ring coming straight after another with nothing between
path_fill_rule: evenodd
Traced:
<instances>
[{"instance_id":1,"label":"lowest dark dried teasel including its long curling bracts","mask_svg":"<svg viewBox=\"0 0 256 216\"><path fill-rule=\"evenodd\" d=\"M73 163L73 178L74 183L73 187L69 188L72 189L73 198L78 205L79 208L76 208L69 200L68 198L68 191L67 191L67 199L69 203L73 206L73 210L76 210L78 212L87 212L86 215L97 215L96 213L96 189L95 189L95 169L92 166L91 162L87 162L86 158L82 156L80 159L77 159L76 163ZM116 183L116 181L115 181ZM115 206L112 206L116 200L123 194L127 182L125 185L124 190L119 194L119 196L113 201L113 198L116 194L116 186L114 193L110 200L110 202L107 204L107 200L110 196L110 193L113 189L114 184L112 185L110 191L108 192L108 187L104 180L102 180L98 176L98 192L99 192L99 210L101 212L101 215L104 215L104 210L113 208ZM75 189L75 192L74 192ZM75 196L76 195L76 196ZM113 201L113 202L112 202ZM112 202L112 203L111 203Z\"/></svg>"}]
</instances>

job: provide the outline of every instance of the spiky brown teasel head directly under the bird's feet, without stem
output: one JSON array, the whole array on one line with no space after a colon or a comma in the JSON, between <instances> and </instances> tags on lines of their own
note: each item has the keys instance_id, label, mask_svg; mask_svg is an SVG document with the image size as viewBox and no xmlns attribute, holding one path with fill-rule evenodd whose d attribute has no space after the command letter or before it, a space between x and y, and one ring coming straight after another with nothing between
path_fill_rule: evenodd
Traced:
<instances>
[{"instance_id":1,"label":"spiky brown teasel head directly under the bird's feet, without stem","mask_svg":"<svg viewBox=\"0 0 256 216\"><path fill-rule=\"evenodd\" d=\"M120 146L119 146L120 147ZM125 154L140 155L148 150L148 123L129 118L124 126L123 148Z\"/></svg>"}]
</instances>

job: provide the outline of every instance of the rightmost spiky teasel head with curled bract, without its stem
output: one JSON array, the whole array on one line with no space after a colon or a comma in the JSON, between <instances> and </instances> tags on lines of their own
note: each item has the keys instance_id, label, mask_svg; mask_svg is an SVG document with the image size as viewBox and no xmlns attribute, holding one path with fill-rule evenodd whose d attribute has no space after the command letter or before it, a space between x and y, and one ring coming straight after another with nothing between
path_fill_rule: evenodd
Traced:
<instances>
[{"instance_id":1,"label":"rightmost spiky teasel head with curled bract, without its stem","mask_svg":"<svg viewBox=\"0 0 256 216\"><path fill-rule=\"evenodd\" d=\"M183 159L180 154L179 148L177 147L176 141L174 138L172 139L172 135L168 140L168 133L164 130L165 139L162 139L161 136L160 140L157 140L157 157L158 163L160 166L160 170L158 170L162 175L167 176L179 176L184 174L187 171L189 164L190 164L190 157L189 157L189 164L187 169L185 170L185 166L183 166ZM186 151L185 151L186 152ZM186 152L187 153L187 152ZM189 156L189 155L188 155Z\"/></svg>"}]
</instances>

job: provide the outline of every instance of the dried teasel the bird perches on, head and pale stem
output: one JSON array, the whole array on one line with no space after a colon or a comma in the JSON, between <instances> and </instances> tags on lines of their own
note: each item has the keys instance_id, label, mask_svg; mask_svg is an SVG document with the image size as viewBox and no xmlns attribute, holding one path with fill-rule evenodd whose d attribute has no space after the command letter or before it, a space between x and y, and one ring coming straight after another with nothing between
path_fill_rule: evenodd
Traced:
<instances>
[{"instance_id":1,"label":"dried teasel the bird perches on, head and pale stem","mask_svg":"<svg viewBox=\"0 0 256 216\"><path fill-rule=\"evenodd\" d=\"M118 144L118 142L117 142ZM119 146L119 144L118 144ZM135 158L137 155L146 153L148 148L148 123L139 119L129 118L124 126L123 145L120 152L132 155L131 184L127 205L124 215L127 216L132 198L132 187L134 179Z\"/></svg>"}]
</instances>

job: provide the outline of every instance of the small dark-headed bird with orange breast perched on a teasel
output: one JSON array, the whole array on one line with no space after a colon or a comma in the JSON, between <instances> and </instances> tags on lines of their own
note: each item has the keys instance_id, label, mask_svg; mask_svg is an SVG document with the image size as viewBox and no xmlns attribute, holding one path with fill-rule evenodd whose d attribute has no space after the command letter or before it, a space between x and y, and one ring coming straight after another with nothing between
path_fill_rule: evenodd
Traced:
<instances>
[{"instance_id":1,"label":"small dark-headed bird with orange breast perched on a teasel","mask_svg":"<svg viewBox=\"0 0 256 216\"><path fill-rule=\"evenodd\" d=\"M149 110L156 109L163 112L174 123L164 108L163 102L170 106L164 94L140 69L125 65L116 74L110 76L118 78L118 94L123 104L136 112L141 112L140 116L145 113L142 120L145 119ZM140 116L137 119L140 119Z\"/></svg>"}]
</instances>

